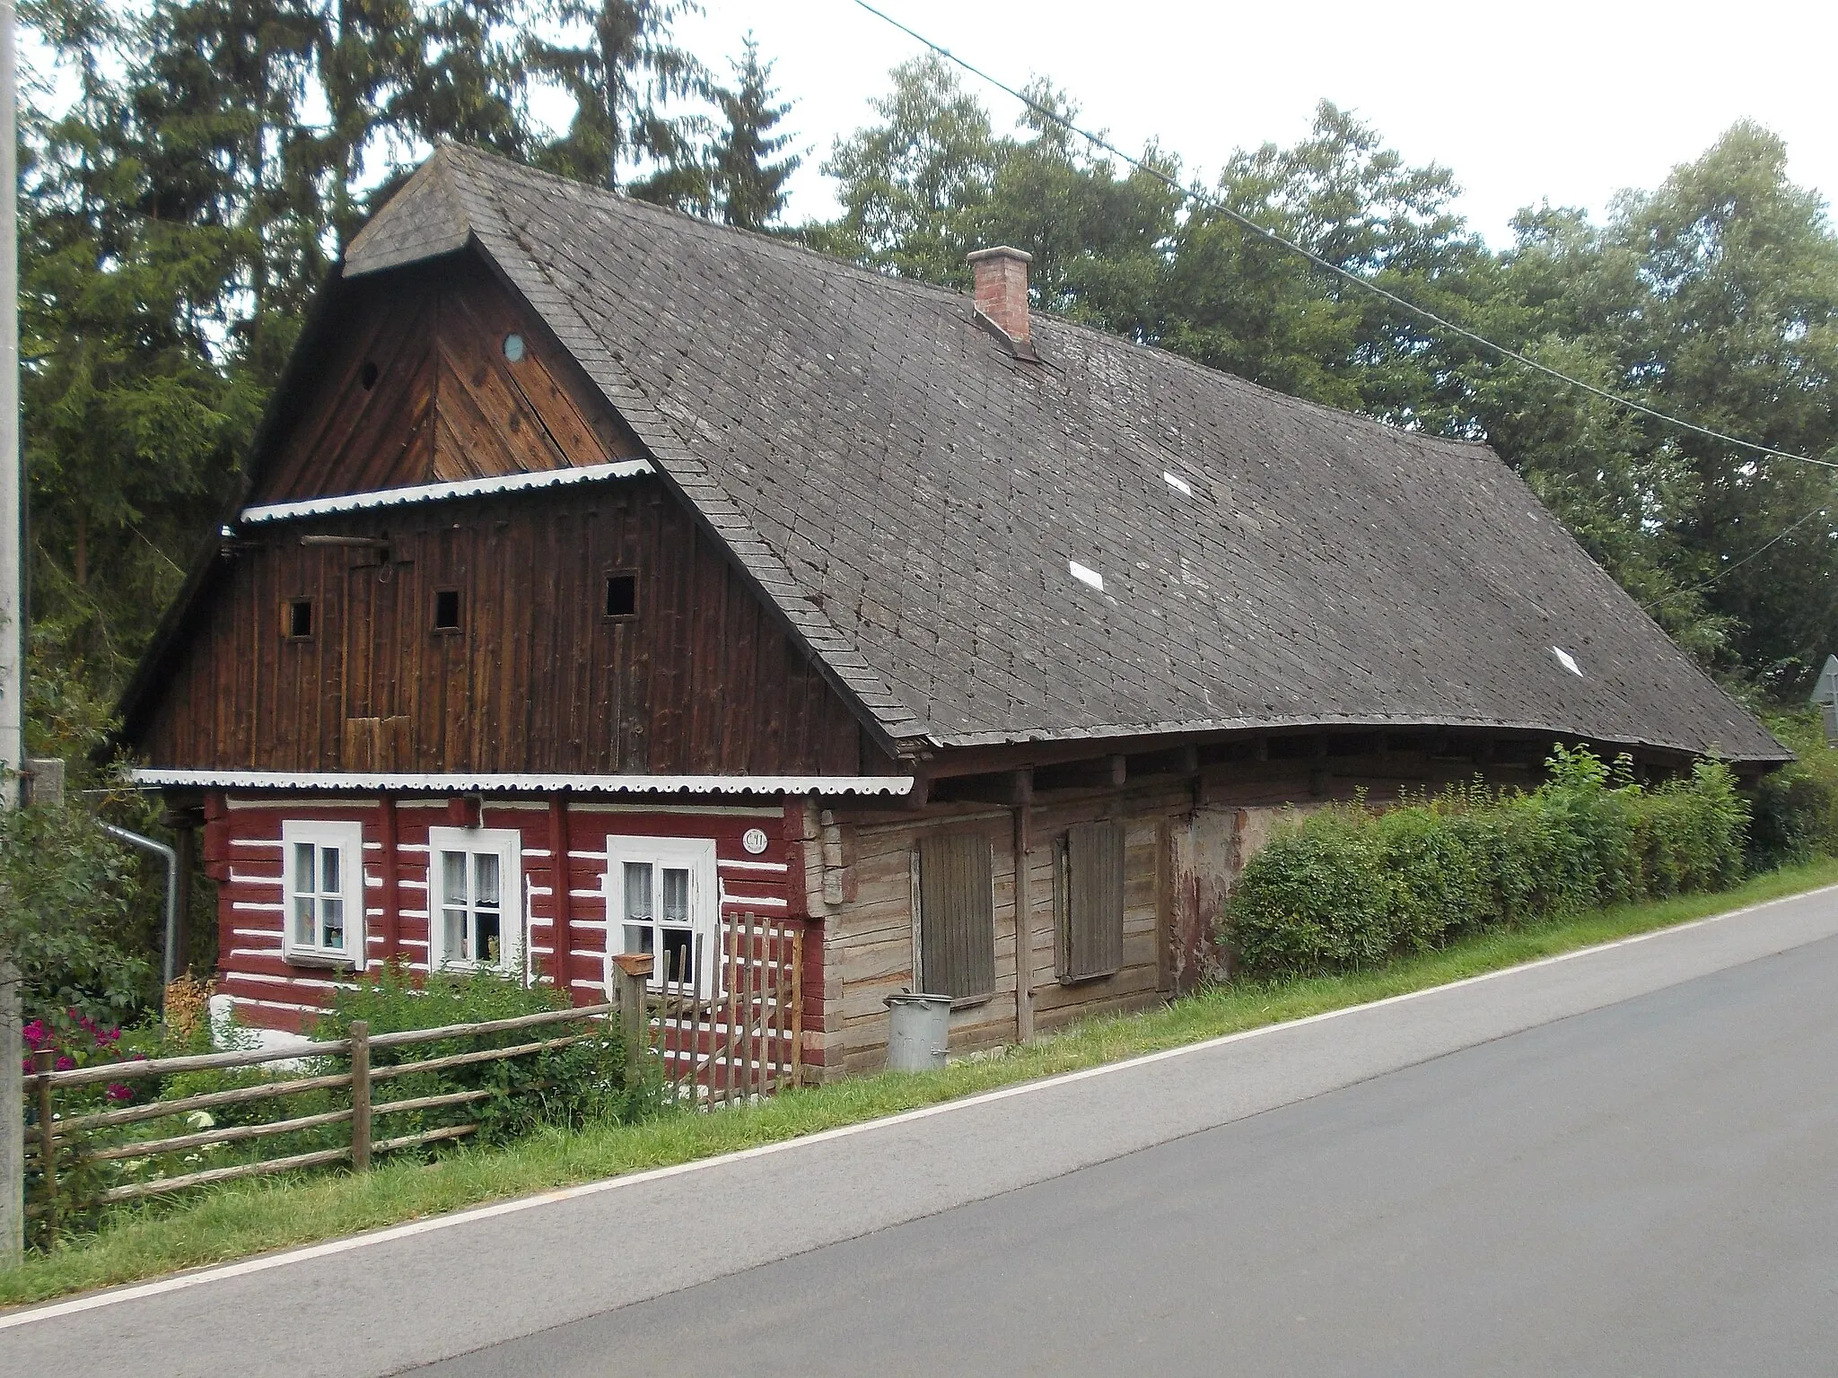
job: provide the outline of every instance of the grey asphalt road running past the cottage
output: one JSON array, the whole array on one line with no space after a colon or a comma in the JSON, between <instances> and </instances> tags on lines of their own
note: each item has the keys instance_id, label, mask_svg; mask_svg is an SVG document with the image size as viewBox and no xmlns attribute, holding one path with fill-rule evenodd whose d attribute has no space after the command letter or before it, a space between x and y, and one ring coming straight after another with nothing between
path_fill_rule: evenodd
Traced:
<instances>
[{"instance_id":1,"label":"grey asphalt road running past the cottage","mask_svg":"<svg viewBox=\"0 0 1838 1378\"><path fill-rule=\"evenodd\" d=\"M0 1317L0 1371L1831 1372L1838 893Z\"/></svg>"}]
</instances>

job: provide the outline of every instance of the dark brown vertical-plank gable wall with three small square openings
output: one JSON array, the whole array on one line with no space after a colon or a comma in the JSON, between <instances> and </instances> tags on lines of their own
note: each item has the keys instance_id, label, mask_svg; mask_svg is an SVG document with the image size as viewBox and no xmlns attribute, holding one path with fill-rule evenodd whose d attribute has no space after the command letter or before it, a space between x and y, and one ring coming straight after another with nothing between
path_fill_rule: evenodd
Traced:
<instances>
[{"instance_id":1,"label":"dark brown vertical-plank gable wall with three small square openings","mask_svg":"<svg viewBox=\"0 0 1838 1378\"><path fill-rule=\"evenodd\" d=\"M248 535L138 733L151 764L891 770L656 478ZM386 544L303 546L303 535ZM636 581L630 616L607 616L616 575ZM311 604L303 638L289 636L296 601ZM458 627L436 625L443 603Z\"/></svg>"}]
</instances>

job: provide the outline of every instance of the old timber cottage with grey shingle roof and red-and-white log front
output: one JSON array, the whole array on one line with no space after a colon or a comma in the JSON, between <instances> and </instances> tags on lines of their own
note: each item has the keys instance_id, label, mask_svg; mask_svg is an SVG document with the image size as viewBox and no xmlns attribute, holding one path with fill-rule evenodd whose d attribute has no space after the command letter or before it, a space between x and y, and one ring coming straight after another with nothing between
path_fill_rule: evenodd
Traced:
<instances>
[{"instance_id":1,"label":"old timber cottage with grey shingle roof and red-and-white log front","mask_svg":"<svg viewBox=\"0 0 1838 1378\"><path fill-rule=\"evenodd\" d=\"M803 932L801 1064L1152 1003L1285 805L1787 751L1481 445L445 147L353 241L123 704L222 988L599 1000Z\"/></svg>"}]
</instances>

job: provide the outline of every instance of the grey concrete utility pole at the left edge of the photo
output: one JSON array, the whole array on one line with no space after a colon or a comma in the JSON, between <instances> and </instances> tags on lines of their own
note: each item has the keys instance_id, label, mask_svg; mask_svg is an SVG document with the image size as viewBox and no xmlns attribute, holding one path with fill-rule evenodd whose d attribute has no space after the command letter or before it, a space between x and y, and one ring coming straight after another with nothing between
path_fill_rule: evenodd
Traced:
<instances>
[{"instance_id":1,"label":"grey concrete utility pole at the left edge of the photo","mask_svg":"<svg viewBox=\"0 0 1838 1378\"><path fill-rule=\"evenodd\" d=\"M0 0L0 808L18 807L18 772L26 764L15 20L13 0ZM26 1249L26 1088L20 1056L18 968L0 952L0 1268L18 1262Z\"/></svg>"}]
</instances>

